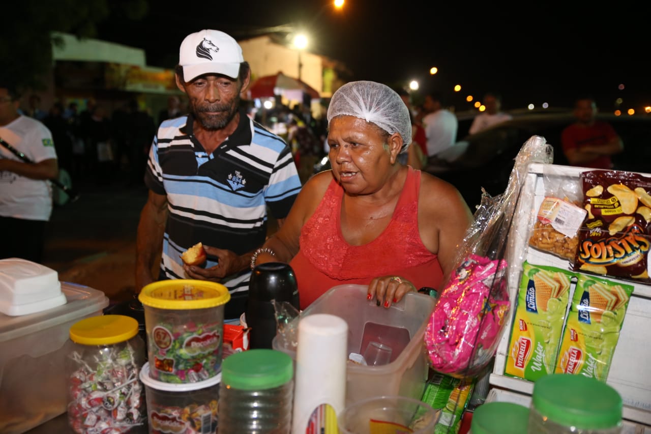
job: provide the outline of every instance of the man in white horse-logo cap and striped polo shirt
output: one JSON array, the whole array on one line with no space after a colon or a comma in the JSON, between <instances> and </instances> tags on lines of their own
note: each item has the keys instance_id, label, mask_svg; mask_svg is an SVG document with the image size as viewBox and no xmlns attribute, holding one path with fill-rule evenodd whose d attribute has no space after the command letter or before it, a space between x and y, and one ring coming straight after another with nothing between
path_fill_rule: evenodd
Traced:
<instances>
[{"instance_id":1,"label":"man in white horse-logo cap and striped polo shirt","mask_svg":"<svg viewBox=\"0 0 651 434\"><path fill-rule=\"evenodd\" d=\"M163 122L150 149L136 290L163 279L221 282L231 293L225 319L234 319L245 309L249 264L266 239L267 212L281 224L301 183L283 139L240 109L251 70L236 40L202 30L186 36L179 54L176 85L187 94L189 114ZM184 264L180 255L199 242L206 263Z\"/></svg>"}]
</instances>

